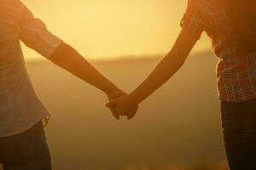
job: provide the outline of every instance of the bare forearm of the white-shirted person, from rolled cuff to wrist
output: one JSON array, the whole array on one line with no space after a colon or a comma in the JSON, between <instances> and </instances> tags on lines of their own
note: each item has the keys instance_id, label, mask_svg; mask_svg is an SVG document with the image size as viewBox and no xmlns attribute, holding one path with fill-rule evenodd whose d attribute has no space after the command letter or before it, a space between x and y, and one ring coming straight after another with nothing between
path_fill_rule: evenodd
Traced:
<instances>
[{"instance_id":1,"label":"bare forearm of the white-shirted person, from rolled cuff to wrist","mask_svg":"<svg viewBox=\"0 0 256 170\"><path fill-rule=\"evenodd\" d=\"M50 60L106 94L116 88L113 82L103 77L100 71L97 71L81 54L64 42L55 50Z\"/></svg>"}]
</instances>

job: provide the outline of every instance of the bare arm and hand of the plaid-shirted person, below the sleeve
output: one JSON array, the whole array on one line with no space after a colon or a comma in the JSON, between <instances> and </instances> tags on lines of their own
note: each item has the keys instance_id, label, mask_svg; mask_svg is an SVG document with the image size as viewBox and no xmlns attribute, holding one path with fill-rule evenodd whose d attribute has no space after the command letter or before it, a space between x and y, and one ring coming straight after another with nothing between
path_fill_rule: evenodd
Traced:
<instances>
[{"instance_id":1,"label":"bare arm and hand of the plaid-shirted person, below the sleeve","mask_svg":"<svg viewBox=\"0 0 256 170\"><path fill-rule=\"evenodd\" d=\"M186 31L182 30L177 37L172 50L162 59L159 65L148 78L136 88L130 95L121 99L116 99L107 104L107 106L117 105L117 111L120 114L125 114L131 111L132 108L140 104L144 99L147 99L150 94L166 81L168 81L183 65L185 59L189 55L191 49L195 46L197 39L191 37Z\"/></svg>"}]
</instances>

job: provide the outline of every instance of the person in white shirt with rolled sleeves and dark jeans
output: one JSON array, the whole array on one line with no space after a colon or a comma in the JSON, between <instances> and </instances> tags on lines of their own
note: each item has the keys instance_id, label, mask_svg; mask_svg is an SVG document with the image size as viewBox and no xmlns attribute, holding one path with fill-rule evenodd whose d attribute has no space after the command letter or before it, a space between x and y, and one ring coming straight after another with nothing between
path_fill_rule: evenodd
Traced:
<instances>
[{"instance_id":1,"label":"person in white shirt with rolled sleeves and dark jeans","mask_svg":"<svg viewBox=\"0 0 256 170\"><path fill-rule=\"evenodd\" d=\"M20 41L99 88L108 99L126 94L50 33L20 0L0 0L0 163L4 170L49 170L50 154L44 135L49 112L32 88ZM110 110L119 119L115 108Z\"/></svg>"}]
</instances>

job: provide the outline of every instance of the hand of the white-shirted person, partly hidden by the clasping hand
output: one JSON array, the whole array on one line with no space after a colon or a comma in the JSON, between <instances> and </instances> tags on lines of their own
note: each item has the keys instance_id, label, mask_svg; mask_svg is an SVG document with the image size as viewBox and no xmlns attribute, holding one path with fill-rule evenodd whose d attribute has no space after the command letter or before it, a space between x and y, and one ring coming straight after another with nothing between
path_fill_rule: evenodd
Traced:
<instances>
[{"instance_id":1,"label":"hand of the white-shirted person, partly hidden by the clasping hand","mask_svg":"<svg viewBox=\"0 0 256 170\"><path fill-rule=\"evenodd\" d=\"M120 90L119 88L113 88L108 90L108 92L106 92L106 94L108 95L108 100L112 101L114 99L119 99L122 96L127 95L124 91ZM118 120L119 119L119 113L116 111L116 106L109 106L108 109L112 112L113 116Z\"/></svg>"}]
</instances>

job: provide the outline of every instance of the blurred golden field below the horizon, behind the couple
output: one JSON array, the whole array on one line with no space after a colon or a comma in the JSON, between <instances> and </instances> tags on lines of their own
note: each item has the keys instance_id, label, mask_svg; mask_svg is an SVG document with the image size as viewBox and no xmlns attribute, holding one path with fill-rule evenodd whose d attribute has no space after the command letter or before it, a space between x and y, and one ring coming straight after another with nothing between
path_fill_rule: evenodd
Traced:
<instances>
[{"instance_id":1,"label":"blurred golden field below the horizon, behind the couple","mask_svg":"<svg viewBox=\"0 0 256 170\"><path fill-rule=\"evenodd\" d=\"M94 65L130 92L159 59ZM27 63L52 117L46 128L57 170L226 169L212 53L189 57L183 69L147 99L132 121L116 121L96 88L49 62Z\"/></svg>"}]
</instances>

